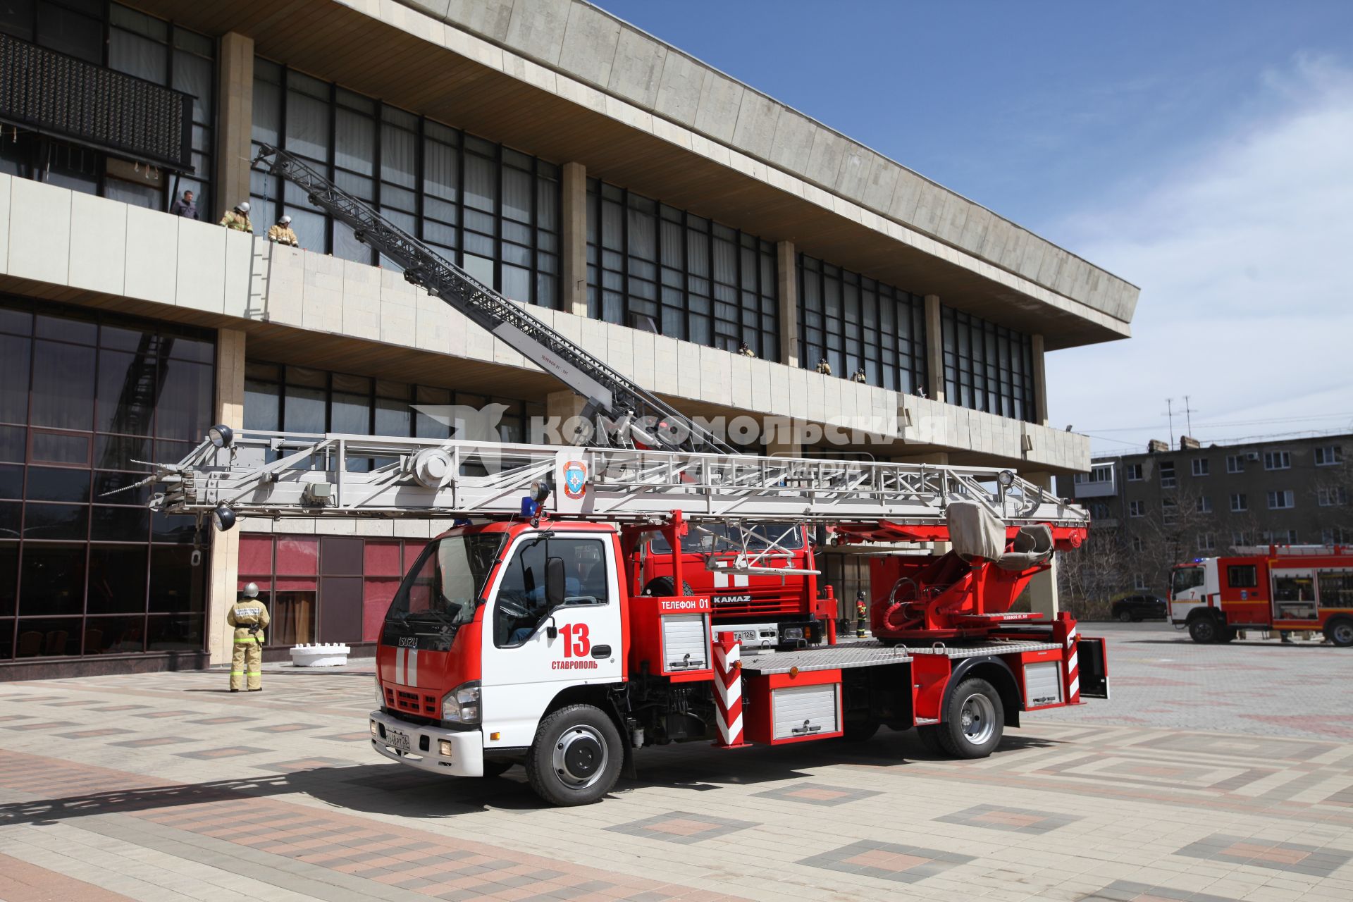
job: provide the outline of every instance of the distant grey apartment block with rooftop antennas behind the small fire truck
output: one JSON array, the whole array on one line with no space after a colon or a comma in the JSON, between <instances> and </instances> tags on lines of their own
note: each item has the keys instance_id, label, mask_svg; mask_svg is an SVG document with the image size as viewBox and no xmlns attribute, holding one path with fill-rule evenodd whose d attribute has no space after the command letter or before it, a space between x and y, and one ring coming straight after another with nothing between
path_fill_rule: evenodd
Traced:
<instances>
[{"instance_id":1,"label":"distant grey apartment block with rooftop antennas behind the small fire truck","mask_svg":"<svg viewBox=\"0 0 1353 902\"><path fill-rule=\"evenodd\" d=\"M1164 596L1172 564L1238 545L1353 541L1353 469L1344 458L1353 435L1154 448L1058 479L1058 491L1091 511L1092 542L1122 549L1122 590Z\"/></svg>"}]
</instances>

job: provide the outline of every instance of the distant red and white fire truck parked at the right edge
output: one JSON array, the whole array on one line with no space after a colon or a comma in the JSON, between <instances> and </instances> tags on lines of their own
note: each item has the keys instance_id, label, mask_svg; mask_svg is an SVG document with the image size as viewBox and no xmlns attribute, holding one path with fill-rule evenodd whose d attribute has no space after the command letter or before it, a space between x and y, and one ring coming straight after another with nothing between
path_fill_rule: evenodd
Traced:
<instances>
[{"instance_id":1,"label":"distant red and white fire truck parked at the right edge","mask_svg":"<svg viewBox=\"0 0 1353 902\"><path fill-rule=\"evenodd\" d=\"M1353 548L1258 545L1199 557L1170 573L1170 621L1195 642L1230 642L1238 630L1322 632L1353 645Z\"/></svg>"}]
</instances>

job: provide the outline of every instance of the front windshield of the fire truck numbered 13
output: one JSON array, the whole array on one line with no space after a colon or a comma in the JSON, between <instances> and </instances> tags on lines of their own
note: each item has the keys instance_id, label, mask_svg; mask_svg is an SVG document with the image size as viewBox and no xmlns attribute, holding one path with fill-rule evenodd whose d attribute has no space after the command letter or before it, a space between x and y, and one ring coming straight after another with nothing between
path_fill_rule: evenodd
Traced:
<instances>
[{"instance_id":1,"label":"front windshield of the fire truck numbered 13","mask_svg":"<svg viewBox=\"0 0 1353 902\"><path fill-rule=\"evenodd\" d=\"M503 546L502 533L453 536L429 542L399 584L387 621L468 623L484 580Z\"/></svg>"}]
</instances>

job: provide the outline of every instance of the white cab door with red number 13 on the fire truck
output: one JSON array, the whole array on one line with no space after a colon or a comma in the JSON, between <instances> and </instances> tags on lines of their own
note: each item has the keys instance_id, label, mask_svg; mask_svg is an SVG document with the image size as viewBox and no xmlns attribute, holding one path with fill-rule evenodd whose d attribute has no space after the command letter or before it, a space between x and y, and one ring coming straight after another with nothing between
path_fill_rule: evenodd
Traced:
<instances>
[{"instance_id":1,"label":"white cab door with red number 13 on the fire truck","mask_svg":"<svg viewBox=\"0 0 1353 902\"><path fill-rule=\"evenodd\" d=\"M564 564L564 603L555 609L545 600L552 557ZM612 533L517 538L484 618L484 748L529 745L549 702L570 686L620 682L621 604Z\"/></svg>"}]
</instances>

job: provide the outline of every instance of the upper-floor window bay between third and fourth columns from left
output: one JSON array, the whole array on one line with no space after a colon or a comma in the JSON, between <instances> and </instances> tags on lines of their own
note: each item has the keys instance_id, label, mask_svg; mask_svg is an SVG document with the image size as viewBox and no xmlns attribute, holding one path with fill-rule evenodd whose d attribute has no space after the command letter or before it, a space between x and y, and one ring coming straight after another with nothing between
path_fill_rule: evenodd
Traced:
<instances>
[{"instance_id":1,"label":"upper-floor window bay between third and fourth columns from left","mask_svg":"<svg viewBox=\"0 0 1353 902\"><path fill-rule=\"evenodd\" d=\"M832 264L798 256L800 365L827 360L848 379L916 394L925 387L925 300Z\"/></svg>"}]
</instances>

